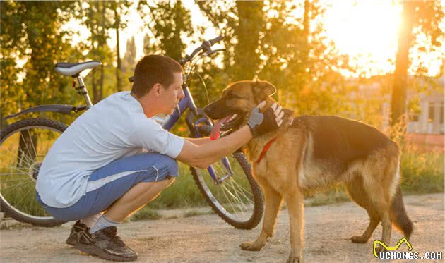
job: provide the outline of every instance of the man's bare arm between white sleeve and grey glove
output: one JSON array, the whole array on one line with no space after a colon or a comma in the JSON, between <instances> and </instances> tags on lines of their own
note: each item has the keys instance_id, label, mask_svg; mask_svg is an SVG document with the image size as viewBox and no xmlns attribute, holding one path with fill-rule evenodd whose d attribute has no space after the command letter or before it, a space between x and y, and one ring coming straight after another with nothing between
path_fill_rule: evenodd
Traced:
<instances>
[{"instance_id":1,"label":"man's bare arm between white sleeve and grey glove","mask_svg":"<svg viewBox=\"0 0 445 263\"><path fill-rule=\"evenodd\" d=\"M205 169L215 161L223 159L245 145L253 137L249 126L243 126L230 135L218 140L210 140L203 145L195 145L189 140L184 142L176 159L190 166ZM204 140L207 138L204 138Z\"/></svg>"}]
</instances>

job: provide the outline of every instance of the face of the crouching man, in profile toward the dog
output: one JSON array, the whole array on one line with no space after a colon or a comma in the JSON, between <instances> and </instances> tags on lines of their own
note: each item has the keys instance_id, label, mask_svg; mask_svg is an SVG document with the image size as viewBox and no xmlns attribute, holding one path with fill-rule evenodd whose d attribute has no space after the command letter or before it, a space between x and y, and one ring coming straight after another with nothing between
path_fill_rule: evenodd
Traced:
<instances>
[{"instance_id":1,"label":"face of the crouching man, in profile toward the dog","mask_svg":"<svg viewBox=\"0 0 445 263\"><path fill-rule=\"evenodd\" d=\"M162 93L160 94L159 99L162 102L163 114L172 114L179 101L184 98L184 91L182 90L182 73L173 73L173 79L174 80L170 86L162 86Z\"/></svg>"}]
</instances>

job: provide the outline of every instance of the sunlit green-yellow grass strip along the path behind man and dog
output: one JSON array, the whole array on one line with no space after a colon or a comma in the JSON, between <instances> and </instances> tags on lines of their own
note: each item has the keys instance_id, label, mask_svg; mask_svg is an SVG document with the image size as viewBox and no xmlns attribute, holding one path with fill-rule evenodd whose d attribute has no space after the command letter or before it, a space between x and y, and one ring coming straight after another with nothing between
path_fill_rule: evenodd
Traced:
<instances>
[{"instance_id":1,"label":"sunlit green-yellow grass strip along the path behind man and dog","mask_svg":"<svg viewBox=\"0 0 445 263\"><path fill-rule=\"evenodd\" d=\"M15 140L18 141L18 138L15 138ZM2 147L9 148L13 147L12 145L13 144L2 145ZM401 185L403 192L405 194L444 192L444 153L421 152L413 146L401 145ZM42 148L46 150L47 147L42 146ZM45 150L43 152L45 152ZM11 153L17 151L11 148L6 152ZM0 161L2 161L1 163L3 164L0 167L0 173L3 173L0 178L1 194L4 195L7 200L14 200L16 206L20 206L20 209L32 209L32 214L46 214L44 209L35 205L34 184L30 180L28 169L24 168L22 175L5 175L5 173L11 171L8 167L16 167L16 164L13 164L16 159L11 158L9 154L5 155L5 152L3 152L3 155L0 153ZM231 163L233 162L231 161ZM239 173L239 166L232 166L232 168L235 169L235 173ZM16 171L16 168L13 171ZM180 176L170 185L170 188L164 190L157 199L134 214L131 220L160 219L162 215L157 212L158 209L184 209L208 206L196 186L189 166L179 164L179 174ZM211 179L208 178L208 180ZM242 184L246 183L245 181L240 182ZM212 183L208 184L210 187L214 187ZM18 187L14 187L13 185L18 185ZM5 192L6 190L8 191ZM218 192L216 192L216 194L218 194ZM307 197L307 205L311 206L349 200L348 194L341 185L330 186L316 194L314 192L309 193ZM192 211L181 216L188 217L198 214L198 212Z\"/></svg>"}]
</instances>

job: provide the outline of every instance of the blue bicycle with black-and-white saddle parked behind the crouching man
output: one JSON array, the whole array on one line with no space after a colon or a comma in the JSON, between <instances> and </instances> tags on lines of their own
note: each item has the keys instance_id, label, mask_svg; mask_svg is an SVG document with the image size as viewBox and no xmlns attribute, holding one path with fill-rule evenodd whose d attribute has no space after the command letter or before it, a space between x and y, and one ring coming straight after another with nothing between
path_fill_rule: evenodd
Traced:
<instances>
[{"instance_id":1,"label":"blue bicycle with black-and-white saddle parked behind the crouching man","mask_svg":"<svg viewBox=\"0 0 445 263\"><path fill-rule=\"evenodd\" d=\"M191 65L184 73L185 97L167 119L157 119L162 128L170 130L189 109L185 121L192 137L210 135L213 123L198 109L189 90L189 76L195 73L195 59L210 56L225 49L211 49L222 40L217 37L204 41L191 55L179 60L182 66ZM73 78L73 88L83 96L85 105L47 104L35 106L5 119L16 118L31 112L57 112L61 114L85 111L93 106L80 73L100 66L99 61L84 63L57 63L55 69ZM132 82L132 77L129 78ZM201 78L203 81L203 79ZM205 83L204 83L205 85ZM48 118L25 118L6 126L0 133L0 205L1 210L13 219L36 226L57 226L64 221L54 219L40 206L35 197L35 181L45 155L52 143L67 128L66 124ZM226 131L225 134L230 133ZM224 136L223 134L222 136ZM196 185L210 207L235 228L254 228L263 216L263 195L251 175L251 166L244 154L235 152L230 157L212 164L208 169L190 167Z\"/></svg>"}]
</instances>

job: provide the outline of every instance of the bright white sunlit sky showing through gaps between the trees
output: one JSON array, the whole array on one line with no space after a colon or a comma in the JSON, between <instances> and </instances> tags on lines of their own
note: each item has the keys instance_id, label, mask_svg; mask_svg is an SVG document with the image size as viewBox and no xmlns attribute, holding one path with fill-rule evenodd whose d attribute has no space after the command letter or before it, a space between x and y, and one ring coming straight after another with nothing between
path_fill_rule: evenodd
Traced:
<instances>
[{"instance_id":1,"label":"bright white sunlit sky showing through gaps between the trees","mask_svg":"<svg viewBox=\"0 0 445 263\"><path fill-rule=\"evenodd\" d=\"M336 44L340 53L350 56L350 63L353 66L358 65L367 72L367 75L381 75L394 70L394 63L397 51L398 26L401 18L401 2L388 0L373 1L326 1L327 9L324 18L324 27L326 35ZM216 37L213 26L208 19L203 16L198 6L192 0L184 0L183 4L191 13L192 23L194 25L203 25L206 30L205 39ZM302 12L299 12L302 13ZM296 14L301 16L301 14ZM144 27L136 5L131 7L129 12L129 27L121 31L120 49L121 56L126 51L126 41L131 37L136 41L136 59L143 56L143 37L148 33L152 34ZM85 27L79 27L79 24L72 22L66 25L68 28L75 28L79 31L81 39L88 37L89 32ZM445 30L445 23L441 24L442 30ZM426 41L425 36L420 36L420 42ZM200 42L200 36L193 37ZM115 31L110 31L109 46L116 47ZM186 53L191 52L194 46L189 45ZM429 51L423 54L420 60L427 63L429 75L437 75L440 67L443 65L442 58L445 51ZM415 67L411 68L414 71ZM344 75L351 75L348 72Z\"/></svg>"}]
</instances>

